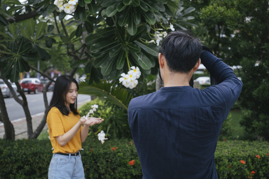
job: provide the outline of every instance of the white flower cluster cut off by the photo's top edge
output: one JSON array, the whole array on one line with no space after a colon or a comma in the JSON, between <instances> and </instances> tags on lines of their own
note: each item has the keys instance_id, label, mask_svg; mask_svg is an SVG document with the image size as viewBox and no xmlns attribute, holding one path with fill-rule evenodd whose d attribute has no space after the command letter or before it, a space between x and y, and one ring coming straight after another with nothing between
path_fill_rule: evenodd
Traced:
<instances>
[{"instance_id":1,"label":"white flower cluster cut off by the photo's top edge","mask_svg":"<svg viewBox=\"0 0 269 179\"><path fill-rule=\"evenodd\" d=\"M54 0L54 4L67 14L73 13L76 10L78 0Z\"/></svg>"}]
</instances>

